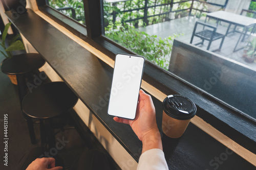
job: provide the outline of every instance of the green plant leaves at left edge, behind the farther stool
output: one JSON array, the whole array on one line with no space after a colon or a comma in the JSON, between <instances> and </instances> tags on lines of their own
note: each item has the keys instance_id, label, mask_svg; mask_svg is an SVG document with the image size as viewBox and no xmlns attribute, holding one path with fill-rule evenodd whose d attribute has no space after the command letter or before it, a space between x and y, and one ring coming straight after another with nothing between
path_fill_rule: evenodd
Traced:
<instances>
[{"instance_id":1,"label":"green plant leaves at left edge, behind the farther stool","mask_svg":"<svg viewBox=\"0 0 256 170\"><path fill-rule=\"evenodd\" d=\"M15 37L13 37L10 41L9 41L9 46L6 46L6 36L7 36L7 32L8 29L11 25L11 22L7 23L7 25L5 26L5 30L2 34L2 39L0 42L0 45L3 46L4 50L0 51L6 58L11 58L12 57L12 51L16 51L16 50L25 50L25 47L22 43L22 41L17 40L19 38L19 34L16 35Z\"/></svg>"}]
</instances>

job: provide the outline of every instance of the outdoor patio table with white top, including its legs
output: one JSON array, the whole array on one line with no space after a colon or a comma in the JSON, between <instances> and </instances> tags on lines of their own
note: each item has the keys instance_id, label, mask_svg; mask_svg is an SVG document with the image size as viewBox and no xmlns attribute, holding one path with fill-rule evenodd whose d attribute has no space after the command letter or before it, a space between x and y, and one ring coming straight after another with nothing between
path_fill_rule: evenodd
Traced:
<instances>
[{"instance_id":1,"label":"outdoor patio table with white top, including its legs","mask_svg":"<svg viewBox=\"0 0 256 170\"><path fill-rule=\"evenodd\" d=\"M238 15L238 14L233 14L233 13L226 12L226 11L211 12L211 13L208 13L206 15L206 18L207 17L216 19L217 20L217 25L218 25L219 21L229 23L225 36L227 34L229 34L228 31L229 31L231 25L243 27L243 31L240 34L240 37L238 39L238 42L237 42L236 46L234 47L233 52L236 52L236 51L242 49L242 48L237 49L238 43L239 43L242 35L244 34L244 37L245 37L246 32L251 27L253 27L252 31L251 31L251 33L252 33L253 30L255 29L255 25L256 25L256 19L254 19L254 18L250 18L250 17L247 17L247 16ZM205 21L206 21L206 18L205 18ZM243 37L243 39L244 39L244 37Z\"/></svg>"}]
</instances>

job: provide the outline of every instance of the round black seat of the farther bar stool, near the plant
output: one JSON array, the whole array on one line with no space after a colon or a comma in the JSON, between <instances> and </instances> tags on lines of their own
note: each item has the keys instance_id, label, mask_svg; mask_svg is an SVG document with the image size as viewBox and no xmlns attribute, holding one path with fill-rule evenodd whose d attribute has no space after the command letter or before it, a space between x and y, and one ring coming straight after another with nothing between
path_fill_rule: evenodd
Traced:
<instances>
[{"instance_id":1,"label":"round black seat of the farther bar stool, near the plant","mask_svg":"<svg viewBox=\"0 0 256 170\"><path fill-rule=\"evenodd\" d=\"M36 70L44 64L45 60L40 54L26 53L6 59L1 69L7 75L22 75Z\"/></svg>"}]
</instances>

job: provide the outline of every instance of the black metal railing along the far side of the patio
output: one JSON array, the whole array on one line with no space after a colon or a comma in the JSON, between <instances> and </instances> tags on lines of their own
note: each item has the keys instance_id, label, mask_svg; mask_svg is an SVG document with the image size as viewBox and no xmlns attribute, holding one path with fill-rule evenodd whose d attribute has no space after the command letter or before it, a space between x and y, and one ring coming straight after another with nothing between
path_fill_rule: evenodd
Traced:
<instances>
[{"instance_id":1,"label":"black metal railing along the far side of the patio","mask_svg":"<svg viewBox=\"0 0 256 170\"><path fill-rule=\"evenodd\" d=\"M152 1L150 0L144 0L144 7L141 7L141 8L134 8L134 9L129 9L129 10L122 10L122 11L118 11L118 10L115 10L115 8L113 8L113 11L112 13L110 13L112 16L113 16L113 23L115 23L116 21L116 18L117 18L117 15L120 15L120 14L124 14L124 13L127 13L127 12L136 12L137 13L140 11L140 10L143 10L144 11L144 15L141 16L141 17L137 17L137 18L133 18L133 19L126 19L126 20L122 20L122 22L133 22L136 21L138 22L138 20L142 19L143 20L143 23L144 25L150 25L149 21L148 21L148 18L151 18L151 17L155 17L155 16L164 16L163 18L165 18L165 20L170 20L169 18L169 14L170 13L182 13L183 11L186 11L185 13L187 13L187 15L191 15L191 12L193 10L196 10L196 11L199 11L200 12L200 16L202 14L202 12L208 12L208 11L205 11L204 9L197 9L197 8L194 8L194 2L199 2L199 3L204 3L204 4L209 4L209 5L214 5L214 6L218 6L218 7L221 7L221 9L225 9L227 3L228 3L228 0L223 0L225 1L225 4L216 4L216 3L209 3L209 2L205 2L205 1L200 1L200 0L187 0L187 1L179 1L179 2L174 2L174 0L165 0L163 4L157 4L157 0L155 0L155 3L154 5L151 5L152 4ZM106 1L108 2L108 1ZM127 6L127 3L130 3L131 5L131 1L129 0L123 0L123 1L119 1L118 3L124 3L124 7ZM151 4L149 4L149 2L151 2ZM190 2L191 5L190 7L188 8L184 8L184 9L179 9L180 5L183 4L183 3L187 3L187 2ZM111 1L109 1L109 3L111 3ZM116 2L113 2L111 3L113 7L116 7L116 5L118 4ZM174 8L174 5L175 4L178 4L178 9L176 10L173 10ZM156 14L156 7L160 7L160 12ZM149 9L153 9L153 15L148 15L148 10ZM167 10L166 10L167 9ZM105 12L105 11L104 11ZM135 25L136 27L136 25Z\"/></svg>"}]
</instances>

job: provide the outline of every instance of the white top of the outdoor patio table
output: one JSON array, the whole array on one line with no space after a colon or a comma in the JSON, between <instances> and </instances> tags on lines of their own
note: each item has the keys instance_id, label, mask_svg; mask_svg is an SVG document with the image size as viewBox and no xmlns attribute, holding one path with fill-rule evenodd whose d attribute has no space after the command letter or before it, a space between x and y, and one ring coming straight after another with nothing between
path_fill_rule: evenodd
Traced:
<instances>
[{"instance_id":1,"label":"white top of the outdoor patio table","mask_svg":"<svg viewBox=\"0 0 256 170\"><path fill-rule=\"evenodd\" d=\"M229 23L237 24L242 27L250 26L256 23L256 19L243 15L233 14L226 11L216 11L207 14L207 17L216 18Z\"/></svg>"}]
</instances>

